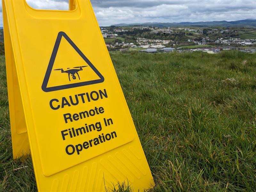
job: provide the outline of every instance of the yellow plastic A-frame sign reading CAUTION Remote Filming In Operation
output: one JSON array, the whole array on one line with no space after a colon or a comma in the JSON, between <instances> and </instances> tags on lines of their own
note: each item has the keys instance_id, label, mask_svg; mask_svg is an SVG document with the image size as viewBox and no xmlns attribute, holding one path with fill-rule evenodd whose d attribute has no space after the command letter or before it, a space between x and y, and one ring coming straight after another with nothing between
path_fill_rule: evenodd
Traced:
<instances>
[{"instance_id":1,"label":"yellow plastic A-frame sign reading CAUTION Remote Filming In Operation","mask_svg":"<svg viewBox=\"0 0 256 192\"><path fill-rule=\"evenodd\" d=\"M68 11L2 3L13 156L31 152L38 191L151 188L90 1Z\"/></svg>"}]
</instances>

